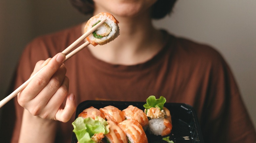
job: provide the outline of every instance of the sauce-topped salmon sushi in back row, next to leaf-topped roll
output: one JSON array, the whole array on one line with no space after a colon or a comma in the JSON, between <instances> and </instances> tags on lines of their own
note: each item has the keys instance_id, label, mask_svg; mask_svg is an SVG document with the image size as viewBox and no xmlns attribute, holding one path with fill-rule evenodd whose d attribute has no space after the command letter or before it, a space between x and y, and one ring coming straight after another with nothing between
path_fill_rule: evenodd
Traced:
<instances>
[{"instance_id":1,"label":"sauce-topped salmon sushi in back row, next to leaf-topped roll","mask_svg":"<svg viewBox=\"0 0 256 143\"><path fill-rule=\"evenodd\" d=\"M148 117L143 112L143 110L139 109L136 106L129 105L127 108L122 110L123 115L126 119L133 119L139 122L144 130L146 130L148 125Z\"/></svg>"}]
</instances>

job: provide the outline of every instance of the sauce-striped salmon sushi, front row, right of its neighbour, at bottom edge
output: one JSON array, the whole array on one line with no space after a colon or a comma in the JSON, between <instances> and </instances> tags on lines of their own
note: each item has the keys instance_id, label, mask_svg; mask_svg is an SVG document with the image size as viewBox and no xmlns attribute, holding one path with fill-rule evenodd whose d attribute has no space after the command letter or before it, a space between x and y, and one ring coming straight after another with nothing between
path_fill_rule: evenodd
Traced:
<instances>
[{"instance_id":1,"label":"sauce-striped salmon sushi, front row, right of its neighbour, at bottom edge","mask_svg":"<svg viewBox=\"0 0 256 143\"><path fill-rule=\"evenodd\" d=\"M126 134L131 143L147 143L147 136L142 126L136 120L124 120L117 124Z\"/></svg>"}]
</instances>

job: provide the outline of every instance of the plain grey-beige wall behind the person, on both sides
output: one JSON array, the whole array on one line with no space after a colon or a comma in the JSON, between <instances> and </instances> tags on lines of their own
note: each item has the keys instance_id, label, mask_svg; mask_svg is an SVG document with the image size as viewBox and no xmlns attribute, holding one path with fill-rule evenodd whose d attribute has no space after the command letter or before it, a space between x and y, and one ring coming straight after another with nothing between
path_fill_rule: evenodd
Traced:
<instances>
[{"instance_id":1,"label":"plain grey-beige wall behind the person, on both sides","mask_svg":"<svg viewBox=\"0 0 256 143\"><path fill-rule=\"evenodd\" d=\"M7 96L18 58L30 40L85 19L68 0L0 0L0 99ZM154 24L215 47L232 69L256 126L256 1L178 0L171 17Z\"/></svg>"}]
</instances>

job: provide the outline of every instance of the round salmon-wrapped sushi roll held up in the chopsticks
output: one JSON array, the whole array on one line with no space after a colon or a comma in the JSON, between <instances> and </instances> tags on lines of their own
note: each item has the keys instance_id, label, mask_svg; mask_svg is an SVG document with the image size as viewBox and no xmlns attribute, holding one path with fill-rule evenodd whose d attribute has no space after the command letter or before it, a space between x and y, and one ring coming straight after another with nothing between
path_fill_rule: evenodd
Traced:
<instances>
[{"instance_id":1,"label":"round salmon-wrapped sushi roll held up in the chopsticks","mask_svg":"<svg viewBox=\"0 0 256 143\"><path fill-rule=\"evenodd\" d=\"M101 12L90 18L84 27L84 32L88 31L105 18L106 21L86 38L94 46L106 44L119 35L119 22L112 14L107 12Z\"/></svg>"}]
</instances>

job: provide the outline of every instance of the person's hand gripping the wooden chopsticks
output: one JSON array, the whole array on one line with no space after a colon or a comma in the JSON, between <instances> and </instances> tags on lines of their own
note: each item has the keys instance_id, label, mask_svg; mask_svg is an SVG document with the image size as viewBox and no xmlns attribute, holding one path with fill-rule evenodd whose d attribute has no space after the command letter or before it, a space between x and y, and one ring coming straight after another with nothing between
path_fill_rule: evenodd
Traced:
<instances>
[{"instance_id":1,"label":"person's hand gripping the wooden chopsticks","mask_svg":"<svg viewBox=\"0 0 256 143\"><path fill-rule=\"evenodd\" d=\"M18 94L18 103L33 116L67 122L75 112L75 96L68 94L69 79L65 75L64 61L65 55L58 53L37 62L32 75L46 67Z\"/></svg>"}]
</instances>

